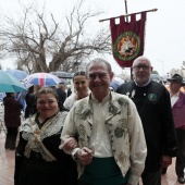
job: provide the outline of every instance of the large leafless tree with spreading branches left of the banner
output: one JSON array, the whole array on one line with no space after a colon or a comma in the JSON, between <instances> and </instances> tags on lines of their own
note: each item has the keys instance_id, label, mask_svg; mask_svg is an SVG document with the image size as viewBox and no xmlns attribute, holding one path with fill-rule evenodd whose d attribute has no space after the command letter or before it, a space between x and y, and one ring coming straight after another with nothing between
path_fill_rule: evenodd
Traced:
<instances>
[{"instance_id":1,"label":"large leafless tree with spreading branches left of the banner","mask_svg":"<svg viewBox=\"0 0 185 185\"><path fill-rule=\"evenodd\" d=\"M5 40L5 49L15 55L28 72L50 72L63 69L74 71L75 63L94 52L111 53L110 34L101 29L91 38L86 36L86 23L101 12L82 11L84 0L73 7L65 16L66 26L57 23L53 14L47 21L45 10L39 13L33 5L23 4L23 15L18 21L4 16L0 38Z\"/></svg>"}]
</instances>

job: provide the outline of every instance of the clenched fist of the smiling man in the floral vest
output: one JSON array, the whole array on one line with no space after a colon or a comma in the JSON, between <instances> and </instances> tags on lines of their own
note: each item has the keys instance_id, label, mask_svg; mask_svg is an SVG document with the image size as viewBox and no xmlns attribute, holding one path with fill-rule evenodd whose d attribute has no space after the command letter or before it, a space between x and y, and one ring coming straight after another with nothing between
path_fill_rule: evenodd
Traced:
<instances>
[{"instance_id":1,"label":"clenched fist of the smiling man in the floral vest","mask_svg":"<svg viewBox=\"0 0 185 185\"><path fill-rule=\"evenodd\" d=\"M82 149L77 150L76 156L82 165L87 165L92 160L92 150L83 147Z\"/></svg>"}]
</instances>

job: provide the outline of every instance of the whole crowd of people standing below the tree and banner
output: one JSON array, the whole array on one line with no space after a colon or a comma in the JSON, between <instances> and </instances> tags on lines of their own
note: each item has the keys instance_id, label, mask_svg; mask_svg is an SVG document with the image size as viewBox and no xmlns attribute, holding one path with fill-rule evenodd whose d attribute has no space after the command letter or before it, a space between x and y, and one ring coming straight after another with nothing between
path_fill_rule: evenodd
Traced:
<instances>
[{"instance_id":1,"label":"whole crowd of people standing below the tree and banner","mask_svg":"<svg viewBox=\"0 0 185 185\"><path fill-rule=\"evenodd\" d=\"M32 86L22 123L23 106L7 94L4 148L16 149L14 184L161 185L174 157L185 184L185 83L174 74L168 90L151 72L150 60L138 57L133 79L112 91L111 65L97 58L74 74L73 91Z\"/></svg>"}]
</instances>

